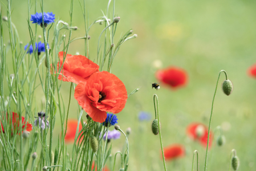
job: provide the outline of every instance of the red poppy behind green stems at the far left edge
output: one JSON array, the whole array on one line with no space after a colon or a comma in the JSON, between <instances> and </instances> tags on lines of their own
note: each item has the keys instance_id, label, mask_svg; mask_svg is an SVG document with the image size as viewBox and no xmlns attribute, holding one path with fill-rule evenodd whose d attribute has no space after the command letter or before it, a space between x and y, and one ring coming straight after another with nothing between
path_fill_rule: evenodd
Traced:
<instances>
[{"instance_id":1,"label":"red poppy behind green stems at the far left edge","mask_svg":"<svg viewBox=\"0 0 256 171\"><path fill-rule=\"evenodd\" d=\"M17 131L17 134L18 134L18 132L19 132L19 115L17 113L13 112L13 118L11 118L11 116L8 115L8 113L6 113L6 119L7 120L10 119L10 124L12 124L11 125L11 127L12 127L11 128L11 135L13 135L13 130L15 132ZM13 119L13 120L11 121L11 119ZM21 117L21 119L22 119L22 132L25 129L26 129L26 131L31 131L32 130L32 124L29 124L28 122L26 123L25 117L23 117L23 116ZM0 121L0 123L1 123L1 121ZM3 129L2 123L1 123L1 127L2 127L3 133L5 133L5 129ZM1 132L1 129L0 129L0 132Z\"/></svg>"}]
</instances>

